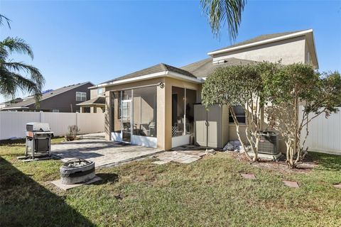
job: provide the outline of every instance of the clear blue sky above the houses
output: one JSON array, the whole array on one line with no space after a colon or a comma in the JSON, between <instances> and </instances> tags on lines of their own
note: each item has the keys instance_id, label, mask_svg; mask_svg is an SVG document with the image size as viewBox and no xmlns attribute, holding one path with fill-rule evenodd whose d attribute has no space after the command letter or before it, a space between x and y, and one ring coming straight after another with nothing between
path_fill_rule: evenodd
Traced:
<instances>
[{"instance_id":1,"label":"clear blue sky above the houses","mask_svg":"<svg viewBox=\"0 0 341 227\"><path fill-rule=\"evenodd\" d=\"M93 84L156 65L181 67L231 45L226 28L212 35L200 1L4 1L0 14L11 29L0 40L20 37L38 67L43 90ZM248 1L237 43L257 35L313 28L320 71L341 72L341 0ZM18 96L23 96L18 92ZM0 102L6 98L0 95Z\"/></svg>"}]
</instances>

